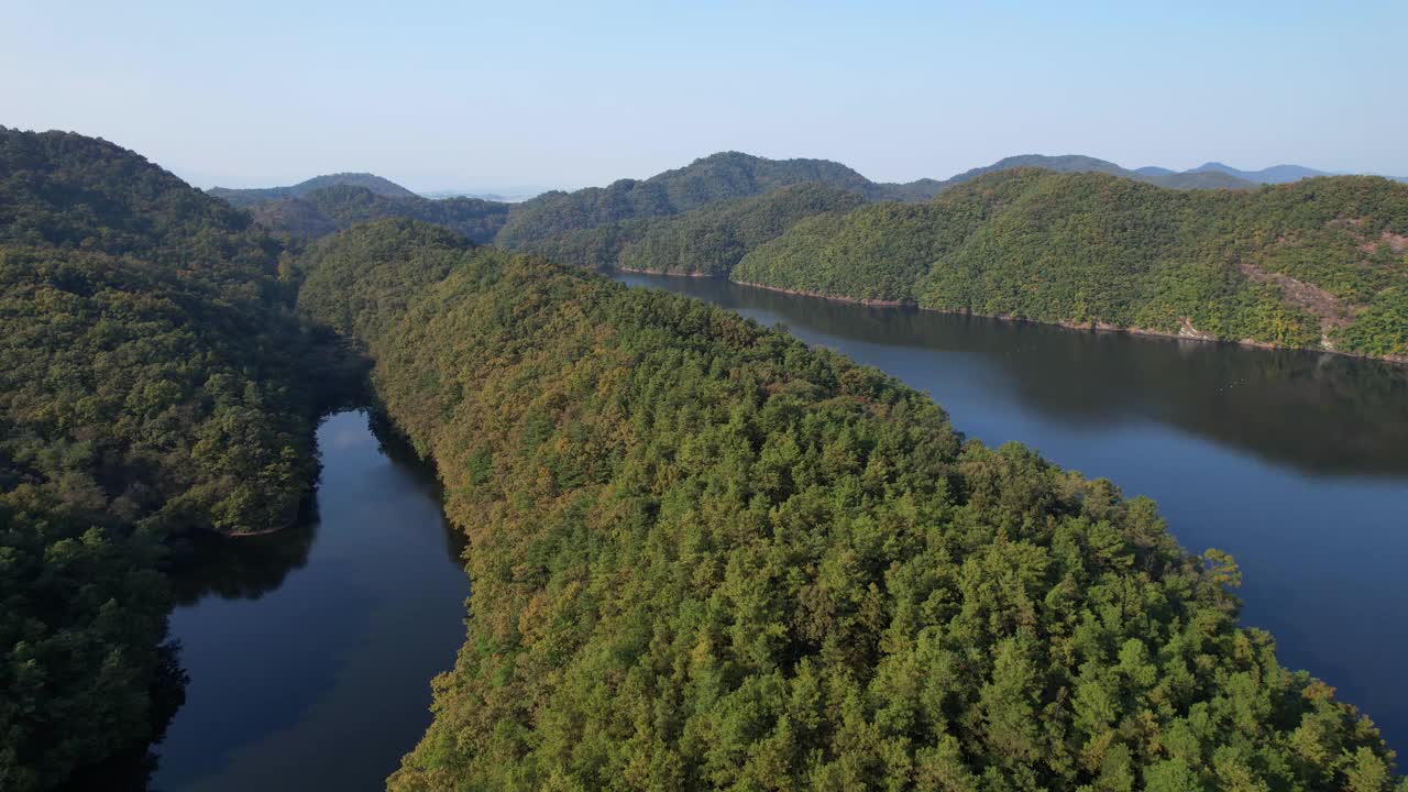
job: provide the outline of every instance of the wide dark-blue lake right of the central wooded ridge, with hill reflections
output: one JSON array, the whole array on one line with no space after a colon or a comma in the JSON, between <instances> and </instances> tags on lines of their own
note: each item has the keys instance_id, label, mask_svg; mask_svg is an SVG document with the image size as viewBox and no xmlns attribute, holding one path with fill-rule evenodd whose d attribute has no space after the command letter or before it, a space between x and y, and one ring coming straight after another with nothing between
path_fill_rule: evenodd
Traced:
<instances>
[{"instance_id":1,"label":"wide dark-blue lake right of the central wooded ridge, with hill reflections","mask_svg":"<svg viewBox=\"0 0 1408 792\"><path fill-rule=\"evenodd\" d=\"M1156 499L1186 548L1236 555L1243 621L1276 636L1281 662L1339 688L1408 755L1408 371L618 279L783 323L926 390L969 437Z\"/></svg>"}]
</instances>

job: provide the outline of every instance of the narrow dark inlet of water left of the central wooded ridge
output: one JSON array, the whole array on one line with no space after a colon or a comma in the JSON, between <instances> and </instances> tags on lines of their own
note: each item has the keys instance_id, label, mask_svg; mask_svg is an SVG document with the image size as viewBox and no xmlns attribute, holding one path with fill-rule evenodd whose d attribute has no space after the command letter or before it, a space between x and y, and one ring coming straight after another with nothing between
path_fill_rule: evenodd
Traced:
<instances>
[{"instance_id":1,"label":"narrow dark inlet of water left of the central wooded ridge","mask_svg":"<svg viewBox=\"0 0 1408 792\"><path fill-rule=\"evenodd\" d=\"M318 428L318 521L206 548L172 616L190 674L153 789L384 789L465 640L434 479L360 412Z\"/></svg>"}]
</instances>

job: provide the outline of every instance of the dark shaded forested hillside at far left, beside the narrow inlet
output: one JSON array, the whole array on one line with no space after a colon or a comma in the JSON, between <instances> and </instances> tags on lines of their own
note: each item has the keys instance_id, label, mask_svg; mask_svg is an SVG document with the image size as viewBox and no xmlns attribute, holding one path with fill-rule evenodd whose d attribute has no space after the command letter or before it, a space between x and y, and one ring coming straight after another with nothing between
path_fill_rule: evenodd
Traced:
<instances>
[{"instance_id":1,"label":"dark shaded forested hillside at far left, beside the narrow inlet","mask_svg":"<svg viewBox=\"0 0 1408 792\"><path fill-rule=\"evenodd\" d=\"M130 151L0 128L7 792L141 750L169 716L169 534L297 516L315 372L277 265L248 216Z\"/></svg>"}]
</instances>

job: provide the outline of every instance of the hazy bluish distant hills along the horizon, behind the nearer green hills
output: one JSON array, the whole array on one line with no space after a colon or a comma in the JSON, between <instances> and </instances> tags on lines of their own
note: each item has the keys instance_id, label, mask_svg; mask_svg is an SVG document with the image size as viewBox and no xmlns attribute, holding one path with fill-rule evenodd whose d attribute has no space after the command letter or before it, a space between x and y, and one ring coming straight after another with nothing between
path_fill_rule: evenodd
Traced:
<instances>
[{"instance_id":1,"label":"hazy bluish distant hills along the horizon, behind the nearer green hills","mask_svg":"<svg viewBox=\"0 0 1408 792\"><path fill-rule=\"evenodd\" d=\"M1188 171L1159 166L1128 169L1107 159L1076 154L1024 154L948 179L893 183L872 182L852 168L826 159L766 159L729 151L696 159L649 179L620 179L605 187L574 192L549 190L527 200L449 193L420 196L373 173L329 173L283 187L211 187L207 193L251 210L260 225L294 237L315 238L369 220L406 217L451 227L476 242L596 262L614 259L624 251L624 245L643 238L643 224L790 186L819 185L867 202L921 203L986 175L1018 168L1107 173L1180 190L1250 190L1260 185L1331 175L1301 165L1240 171L1221 162L1208 162ZM832 196L828 200L836 199ZM815 211L821 211L817 202L796 204L790 199L763 206L773 206L784 216L790 216L798 206L812 206ZM622 224L634 225L627 228ZM583 235L589 231L590 235ZM569 248L563 248L563 244ZM576 255L566 255L567 249Z\"/></svg>"}]
</instances>

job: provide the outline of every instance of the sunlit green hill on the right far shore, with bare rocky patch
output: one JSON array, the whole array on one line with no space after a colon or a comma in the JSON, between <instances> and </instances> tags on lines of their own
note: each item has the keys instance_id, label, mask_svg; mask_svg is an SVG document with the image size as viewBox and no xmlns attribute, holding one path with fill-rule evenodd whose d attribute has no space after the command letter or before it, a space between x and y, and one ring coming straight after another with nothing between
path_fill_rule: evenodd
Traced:
<instances>
[{"instance_id":1,"label":"sunlit green hill on the right far shore, with bare rocky patch","mask_svg":"<svg viewBox=\"0 0 1408 792\"><path fill-rule=\"evenodd\" d=\"M1167 190L988 173L925 204L803 220L732 278L857 300L1373 357L1408 355L1408 186Z\"/></svg>"}]
</instances>

